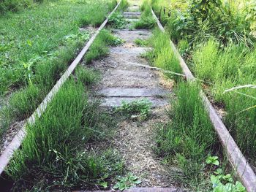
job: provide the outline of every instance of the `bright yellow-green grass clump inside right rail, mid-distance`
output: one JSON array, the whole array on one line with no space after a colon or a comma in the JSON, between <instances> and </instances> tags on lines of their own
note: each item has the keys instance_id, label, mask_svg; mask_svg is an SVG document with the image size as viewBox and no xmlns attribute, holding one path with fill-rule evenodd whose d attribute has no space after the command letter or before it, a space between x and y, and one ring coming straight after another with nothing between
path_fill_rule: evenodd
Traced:
<instances>
[{"instance_id":1,"label":"bright yellow-green grass clump inside right rail, mid-distance","mask_svg":"<svg viewBox=\"0 0 256 192\"><path fill-rule=\"evenodd\" d=\"M151 37L151 45L154 49L146 54L146 58L148 58L151 64L172 72L182 72L178 58L170 47L170 40L167 34L154 30L153 37ZM168 77L173 77L176 81L179 80L178 76L167 75Z\"/></svg>"}]
</instances>

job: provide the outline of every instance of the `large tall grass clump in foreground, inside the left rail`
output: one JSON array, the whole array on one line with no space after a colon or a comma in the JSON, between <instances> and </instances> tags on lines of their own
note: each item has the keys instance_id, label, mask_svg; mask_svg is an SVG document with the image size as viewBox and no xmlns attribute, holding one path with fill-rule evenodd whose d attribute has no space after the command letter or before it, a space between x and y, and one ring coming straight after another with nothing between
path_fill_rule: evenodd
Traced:
<instances>
[{"instance_id":1,"label":"large tall grass clump in foreground, inside the left rail","mask_svg":"<svg viewBox=\"0 0 256 192\"><path fill-rule=\"evenodd\" d=\"M19 190L100 186L121 174L115 150L89 147L110 137L115 121L88 102L82 81L68 80L42 118L27 126L27 137L7 167Z\"/></svg>"}]
</instances>

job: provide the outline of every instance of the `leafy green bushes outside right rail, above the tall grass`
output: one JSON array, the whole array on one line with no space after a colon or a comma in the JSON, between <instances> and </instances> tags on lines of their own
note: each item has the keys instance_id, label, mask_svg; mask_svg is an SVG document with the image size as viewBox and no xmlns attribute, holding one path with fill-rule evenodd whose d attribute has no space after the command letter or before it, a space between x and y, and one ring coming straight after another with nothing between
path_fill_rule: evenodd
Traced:
<instances>
[{"instance_id":1,"label":"leafy green bushes outside right rail, above the tall grass","mask_svg":"<svg viewBox=\"0 0 256 192\"><path fill-rule=\"evenodd\" d=\"M170 31L174 42L184 37L189 43L203 42L214 37L225 45L228 42L244 42L253 46L253 39L249 35L249 21L246 20L247 14L233 1L192 0L178 4L176 9L168 5L168 8L172 9L168 16L163 10L161 12L162 23L167 31ZM187 4L187 9L182 8L183 4ZM154 5L157 12L160 12L160 5L162 4Z\"/></svg>"}]
</instances>

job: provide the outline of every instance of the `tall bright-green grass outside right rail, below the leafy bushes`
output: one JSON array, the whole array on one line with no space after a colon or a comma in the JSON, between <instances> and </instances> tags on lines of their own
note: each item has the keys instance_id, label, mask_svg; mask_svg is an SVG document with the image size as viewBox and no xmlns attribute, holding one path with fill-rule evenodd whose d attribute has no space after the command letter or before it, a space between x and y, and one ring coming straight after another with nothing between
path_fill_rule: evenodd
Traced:
<instances>
[{"instance_id":1,"label":"tall bright-green grass outside right rail, below the leafy bushes","mask_svg":"<svg viewBox=\"0 0 256 192\"><path fill-rule=\"evenodd\" d=\"M222 49L219 48L219 42L211 40L199 45L192 55L195 74L206 80L206 84L214 84L210 85L211 94L225 106L225 124L241 150L253 159L256 158L256 109L246 108L255 106L255 99L234 92L223 92L237 85L256 83L255 53L255 50L249 50L244 45L230 44ZM238 91L249 96L256 95L255 89ZM246 111L241 112L243 110Z\"/></svg>"}]
</instances>

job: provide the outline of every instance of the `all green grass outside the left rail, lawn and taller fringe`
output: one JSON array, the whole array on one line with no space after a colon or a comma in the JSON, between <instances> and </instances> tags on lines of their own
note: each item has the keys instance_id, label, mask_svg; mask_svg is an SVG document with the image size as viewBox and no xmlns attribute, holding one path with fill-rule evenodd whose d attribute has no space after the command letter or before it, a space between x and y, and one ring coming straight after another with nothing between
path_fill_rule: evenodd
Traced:
<instances>
[{"instance_id":1,"label":"all green grass outside the left rail, lawn and taller fringe","mask_svg":"<svg viewBox=\"0 0 256 192\"><path fill-rule=\"evenodd\" d=\"M0 137L10 123L34 112L89 39L89 33L78 28L98 26L115 5L54 1L0 17L0 95L15 92L0 111ZM96 9L105 15L94 17Z\"/></svg>"}]
</instances>

